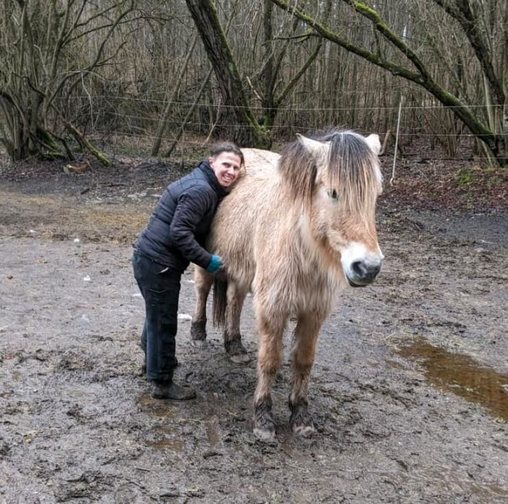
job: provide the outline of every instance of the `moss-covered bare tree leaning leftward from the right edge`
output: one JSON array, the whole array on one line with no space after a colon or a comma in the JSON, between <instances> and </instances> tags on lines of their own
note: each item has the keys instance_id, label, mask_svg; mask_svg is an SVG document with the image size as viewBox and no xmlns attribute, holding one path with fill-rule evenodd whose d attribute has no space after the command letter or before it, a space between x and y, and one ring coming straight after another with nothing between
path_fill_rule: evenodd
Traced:
<instances>
[{"instance_id":1,"label":"moss-covered bare tree leaning leftward from the right edge","mask_svg":"<svg viewBox=\"0 0 508 504\"><path fill-rule=\"evenodd\" d=\"M368 62L382 67L392 73L394 76L400 76L410 82L414 82L419 87L426 89L441 104L452 108L454 114L481 140L489 157L497 164L505 164L508 159L508 141L505 133L505 125L503 120L506 113L507 94L503 89L503 78L506 71L496 71L492 59L492 51L489 51L489 43L485 31L480 29L481 16L479 14L479 5L483 2L476 0L434 0L434 3L443 9L443 13L452 16L459 22L463 33L474 49L474 54L481 65L483 75L485 76L485 89L489 97L495 102L501 113L498 113L500 119L494 119L494 124L487 123L475 113L467 104L462 102L456 95L452 94L448 89L441 86L432 76L426 62L412 49L410 43L406 41L402 34L398 34L391 29L388 24L379 16L379 13L369 8L366 4L354 0L342 0L342 3L356 12L362 19L367 20L379 38L388 43L392 49L397 51L398 56L404 56L406 64L395 62L384 57L380 51L369 49L368 47L353 43L340 32L335 32L324 23L319 22L315 16L306 14L302 10L296 8L295 2L289 3L286 0L270 0L280 8L287 10L300 21L306 23L314 33L327 40L351 51L353 54L364 58ZM494 0L493 0L494 1ZM506 6L505 6L506 10ZM506 15L506 14L505 14ZM505 38L506 35L503 35ZM488 107L488 104L487 104ZM498 124L498 126L496 126Z\"/></svg>"}]
</instances>

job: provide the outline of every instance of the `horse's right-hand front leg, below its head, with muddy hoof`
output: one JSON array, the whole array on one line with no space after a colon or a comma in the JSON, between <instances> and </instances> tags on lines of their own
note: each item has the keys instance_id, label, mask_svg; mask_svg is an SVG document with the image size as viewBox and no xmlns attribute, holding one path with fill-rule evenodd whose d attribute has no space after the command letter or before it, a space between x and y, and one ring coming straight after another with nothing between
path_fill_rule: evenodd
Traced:
<instances>
[{"instance_id":1,"label":"horse's right-hand front leg, below its head, with muddy hoof","mask_svg":"<svg viewBox=\"0 0 508 504\"><path fill-rule=\"evenodd\" d=\"M298 314L294 330L294 342L291 349L291 393L289 395L291 418L289 423L293 432L301 436L308 436L316 431L308 410L307 391L316 355L318 334L324 318L319 312Z\"/></svg>"}]
</instances>

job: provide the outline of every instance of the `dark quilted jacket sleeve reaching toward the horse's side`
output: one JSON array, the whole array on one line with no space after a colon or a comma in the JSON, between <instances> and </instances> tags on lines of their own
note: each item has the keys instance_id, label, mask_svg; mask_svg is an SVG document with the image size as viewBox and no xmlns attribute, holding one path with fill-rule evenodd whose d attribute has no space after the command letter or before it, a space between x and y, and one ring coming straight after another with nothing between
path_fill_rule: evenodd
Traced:
<instances>
[{"instance_id":1,"label":"dark quilted jacket sleeve reaching toward the horse's side","mask_svg":"<svg viewBox=\"0 0 508 504\"><path fill-rule=\"evenodd\" d=\"M214 196L206 187L195 185L181 194L170 226L170 236L175 247L186 260L207 268L212 260L195 238L197 225L215 205Z\"/></svg>"}]
</instances>

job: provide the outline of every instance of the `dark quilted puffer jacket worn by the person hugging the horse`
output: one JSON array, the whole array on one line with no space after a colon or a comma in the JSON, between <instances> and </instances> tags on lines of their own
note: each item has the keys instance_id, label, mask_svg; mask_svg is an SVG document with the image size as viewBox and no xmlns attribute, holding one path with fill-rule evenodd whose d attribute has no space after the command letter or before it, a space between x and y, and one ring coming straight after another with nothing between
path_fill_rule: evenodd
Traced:
<instances>
[{"instance_id":1,"label":"dark quilted puffer jacket worn by the person hugging the horse","mask_svg":"<svg viewBox=\"0 0 508 504\"><path fill-rule=\"evenodd\" d=\"M190 174L166 187L134 249L177 271L183 272L189 262L207 268L212 255L203 244L226 194L208 161L202 161Z\"/></svg>"}]
</instances>

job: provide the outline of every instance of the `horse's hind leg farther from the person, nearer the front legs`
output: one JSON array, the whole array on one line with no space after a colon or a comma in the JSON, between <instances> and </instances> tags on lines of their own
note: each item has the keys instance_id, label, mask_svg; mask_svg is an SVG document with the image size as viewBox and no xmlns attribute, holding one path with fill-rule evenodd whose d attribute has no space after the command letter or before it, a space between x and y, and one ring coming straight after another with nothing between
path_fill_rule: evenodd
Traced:
<instances>
[{"instance_id":1,"label":"horse's hind leg farther from the person, nearer the front legs","mask_svg":"<svg viewBox=\"0 0 508 504\"><path fill-rule=\"evenodd\" d=\"M240 316L247 289L230 282L228 284L228 308L224 328L224 347L234 363L248 363L250 358L242 345Z\"/></svg>"}]
</instances>

